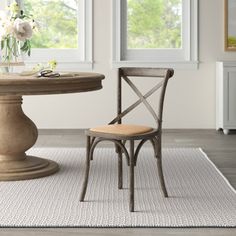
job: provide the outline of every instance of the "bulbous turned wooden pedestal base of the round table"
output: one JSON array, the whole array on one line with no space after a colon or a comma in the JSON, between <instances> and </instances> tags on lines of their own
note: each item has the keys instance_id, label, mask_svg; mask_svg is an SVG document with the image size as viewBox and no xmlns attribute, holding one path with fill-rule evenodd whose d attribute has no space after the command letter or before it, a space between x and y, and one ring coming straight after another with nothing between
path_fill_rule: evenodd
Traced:
<instances>
[{"instance_id":1,"label":"bulbous turned wooden pedestal base of the round table","mask_svg":"<svg viewBox=\"0 0 236 236\"><path fill-rule=\"evenodd\" d=\"M0 96L0 180L23 180L58 171L56 162L25 152L38 137L35 124L24 114L21 96Z\"/></svg>"}]
</instances>

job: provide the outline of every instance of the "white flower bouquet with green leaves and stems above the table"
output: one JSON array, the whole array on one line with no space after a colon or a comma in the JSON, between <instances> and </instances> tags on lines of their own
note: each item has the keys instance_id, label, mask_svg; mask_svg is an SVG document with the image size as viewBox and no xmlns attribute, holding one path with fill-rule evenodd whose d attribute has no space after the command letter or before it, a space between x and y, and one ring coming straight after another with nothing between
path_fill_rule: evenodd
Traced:
<instances>
[{"instance_id":1,"label":"white flower bouquet with green leaves and stems above the table","mask_svg":"<svg viewBox=\"0 0 236 236\"><path fill-rule=\"evenodd\" d=\"M34 20L24 14L16 1L0 12L0 42L2 62L17 62L21 53L31 54L30 39L35 29Z\"/></svg>"}]
</instances>

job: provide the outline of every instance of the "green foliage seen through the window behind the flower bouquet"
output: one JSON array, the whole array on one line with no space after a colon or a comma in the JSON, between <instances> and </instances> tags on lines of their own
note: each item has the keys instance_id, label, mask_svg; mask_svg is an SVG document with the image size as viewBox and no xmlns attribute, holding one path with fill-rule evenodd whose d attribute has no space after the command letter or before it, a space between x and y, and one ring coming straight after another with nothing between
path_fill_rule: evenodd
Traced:
<instances>
[{"instance_id":1,"label":"green foliage seen through the window behind the flower bouquet","mask_svg":"<svg viewBox=\"0 0 236 236\"><path fill-rule=\"evenodd\" d=\"M32 48L78 47L78 0L24 0L25 11L39 24Z\"/></svg>"}]
</instances>

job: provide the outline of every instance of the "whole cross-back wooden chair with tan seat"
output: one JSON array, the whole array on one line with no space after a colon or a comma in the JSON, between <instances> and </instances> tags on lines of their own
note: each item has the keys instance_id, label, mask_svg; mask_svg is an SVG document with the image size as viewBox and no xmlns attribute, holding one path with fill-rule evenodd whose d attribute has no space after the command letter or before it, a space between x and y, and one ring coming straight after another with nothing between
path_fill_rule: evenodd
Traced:
<instances>
[{"instance_id":1,"label":"whole cross-back wooden chair with tan seat","mask_svg":"<svg viewBox=\"0 0 236 236\"><path fill-rule=\"evenodd\" d=\"M113 119L108 125L91 128L86 131L87 135L87 154L86 154L86 171L85 178L80 195L80 201L84 201L86 194L90 161L93 159L94 149L101 141L111 141L115 143L116 152L118 153L118 188L122 188L122 156L127 159L127 164L130 169L129 174L129 188L130 188L130 203L129 209L134 211L134 167L137 163L139 151L146 141L150 141L153 148L155 157L157 159L158 174L160 179L161 188L165 197L168 197L163 171L162 171L162 148L161 148L161 135L162 135L162 113L163 104L167 82L174 74L173 69L159 69L159 68L119 68L118 76L118 106L117 117ZM130 80L137 79L136 77L148 77L159 78L157 85L155 85L145 95L138 90L134 83ZM132 90L137 94L139 99L131 106L122 111L122 81L125 81ZM161 81L160 81L161 80ZM159 108L158 112L155 112L152 106L147 102L147 98L151 96L156 90L159 90ZM140 104L144 104L147 110L151 113L156 122L156 127L142 125L129 125L122 124L122 118L131 112ZM139 141L136 149L134 141ZM126 143L129 141L129 150L126 147Z\"/></svg>"}]
</instances>

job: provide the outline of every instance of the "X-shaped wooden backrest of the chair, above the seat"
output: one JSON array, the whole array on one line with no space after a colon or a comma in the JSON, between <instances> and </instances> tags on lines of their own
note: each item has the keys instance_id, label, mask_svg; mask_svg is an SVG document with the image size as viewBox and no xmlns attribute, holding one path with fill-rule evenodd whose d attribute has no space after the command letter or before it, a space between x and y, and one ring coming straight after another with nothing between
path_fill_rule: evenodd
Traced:
<instances>
[{"instance_id":1,"label":"X-shaped wooden backrest of the chair, above the seat","mask_svg":"<svg viewBox=\"0 0 236 236\"><path fill-rule=\"evenodd\" d=\"M168 68L134 68L134 67L122 67L118 70L118 101L117 101L117 117L113 119L109 124L118 123L121 124L122 118L135 109L138 105L144 104L150 114L153 116L157 128L161 127L162 122L162 113L163 113L163 104L166 86L169 78L174 75L173 69ZM155 77L158 78L158 83L149 90L146 94L142 94L140 90L135 86L135 84L130 80L133 77ZM125 81L130 88L136 93L139 99L130 105L128 108L122 111L122 81ZM152 106L147 101L147 98L150 97L157 90L160 91L159 96L159 106L158 112L156 112Z\"/></svg>"}]
</instances>

